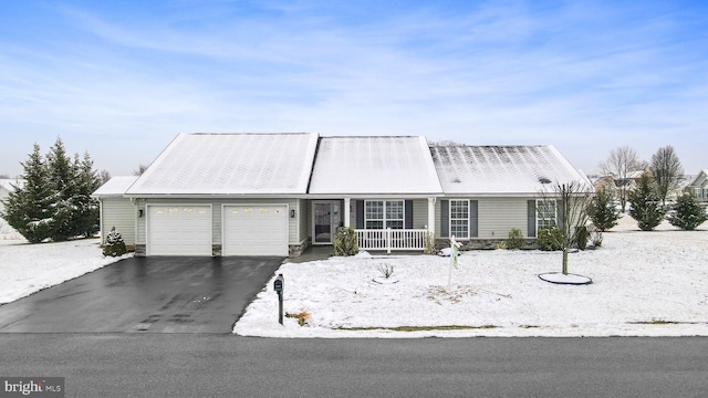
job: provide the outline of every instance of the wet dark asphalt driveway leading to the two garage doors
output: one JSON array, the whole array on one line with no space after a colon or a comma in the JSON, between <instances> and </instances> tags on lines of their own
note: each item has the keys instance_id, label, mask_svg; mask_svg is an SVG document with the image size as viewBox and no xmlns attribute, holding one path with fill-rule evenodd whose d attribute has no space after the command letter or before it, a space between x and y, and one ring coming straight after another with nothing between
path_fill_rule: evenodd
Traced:
<instances>
[{"instance_id":1,"label":"wet dark asphalt driveway leading to the two garage doors","mask_svg":"<svg viewBox=\"0 0 708 398\"><path fill-rule=\"evenodd\" d=\"M0 305L0 333L231 333L282 260L123 260Z\"/></svg>"}]
</instances>

